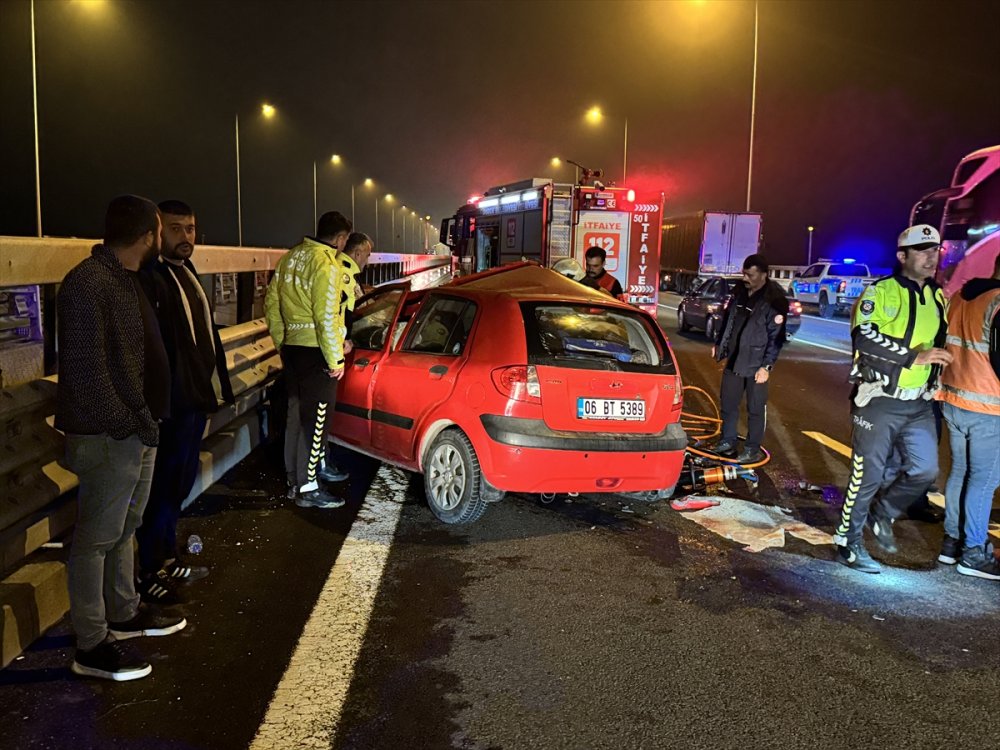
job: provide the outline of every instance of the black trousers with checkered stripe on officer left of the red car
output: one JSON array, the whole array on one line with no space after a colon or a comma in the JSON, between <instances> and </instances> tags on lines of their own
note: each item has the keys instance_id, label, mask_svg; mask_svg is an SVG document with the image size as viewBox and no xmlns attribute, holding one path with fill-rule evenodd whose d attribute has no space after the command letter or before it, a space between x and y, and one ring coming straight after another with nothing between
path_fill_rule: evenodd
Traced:
<instances>
[{"instance_id":1,"label":"black trousers with checkered stripe on officer left of the red car","mask_svg":"<svg viewBox=\"0 0 1000 750\"><path fill-rule=\"evenodd\" d=\"M300 492L319 487L316 472L327 442L328 422L337 400L337 380L327 372L319 347L281 347L281 363L288 391L285 423L285 472Z\"/></svg>"}]
</instances>

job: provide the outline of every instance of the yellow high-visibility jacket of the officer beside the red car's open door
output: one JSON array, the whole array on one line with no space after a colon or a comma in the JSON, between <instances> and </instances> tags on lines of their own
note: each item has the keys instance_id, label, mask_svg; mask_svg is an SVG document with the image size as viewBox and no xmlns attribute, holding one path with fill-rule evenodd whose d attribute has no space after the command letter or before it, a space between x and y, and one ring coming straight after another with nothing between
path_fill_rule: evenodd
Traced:
<instances>
[{"instance_id":1,"label":"yellow high-visibility jacket of the officer beside the red car's open door","mask_svg":"<svg viewBox=\"0 0 1000 750\"><path fill-rule=\"evenodd\" d=\"M327 367L343 367L347 331L341 294L353 290L353 283L337 262L336 248L326 243L306 237L285 253L264 298L274 346L319 347Z\"/></svg>"}]
</instances>

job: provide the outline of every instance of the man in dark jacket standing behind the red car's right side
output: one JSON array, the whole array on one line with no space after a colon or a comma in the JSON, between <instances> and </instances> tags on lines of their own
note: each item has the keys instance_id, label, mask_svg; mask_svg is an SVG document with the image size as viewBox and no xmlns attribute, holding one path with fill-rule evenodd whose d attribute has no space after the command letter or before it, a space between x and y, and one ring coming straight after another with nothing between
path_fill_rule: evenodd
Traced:
<instances>
[{"instance_id":1,"label":"man in dark jacket standing behind the red car's right side","mask_svg":"<svg viewBox=\"0 0 1000 750\"><path fill-rule=\"evenodd\" d=\"M778 353L785 343L788 298L782 288L768 278L767 260L755 254L743 261L743 280L736 284L733 298L719 326L712 355L726 361L722 372L722 438L715 452L742 464L764 458L760 449L767 421L767 381ZM736 454L736 426L740 402L747 398L747 439Z\"/></svg>"}]
</instances>

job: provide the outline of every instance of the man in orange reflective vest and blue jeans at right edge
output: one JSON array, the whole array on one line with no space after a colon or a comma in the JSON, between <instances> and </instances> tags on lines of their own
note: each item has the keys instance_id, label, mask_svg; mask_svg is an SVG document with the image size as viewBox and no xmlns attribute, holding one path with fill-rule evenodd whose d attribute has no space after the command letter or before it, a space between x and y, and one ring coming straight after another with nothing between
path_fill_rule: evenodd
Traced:
<instances>
[{"instance_id":1,"label":"man in orange reflective vest and blue jeans at right edge","mask_svg":"<svg viewBox=\"0 0 1000 750\"><path fill-rule=\"evenodd\" d=\"M959 573L991 581L1000 581L1000 564L986 541L993 492L1000 485L998 311L1000 255L992 278L972 279L951 299L945 346L954 361L941 376L936 396L951 440L938 561L958 563Z\"/></svg>"}]
</instances>

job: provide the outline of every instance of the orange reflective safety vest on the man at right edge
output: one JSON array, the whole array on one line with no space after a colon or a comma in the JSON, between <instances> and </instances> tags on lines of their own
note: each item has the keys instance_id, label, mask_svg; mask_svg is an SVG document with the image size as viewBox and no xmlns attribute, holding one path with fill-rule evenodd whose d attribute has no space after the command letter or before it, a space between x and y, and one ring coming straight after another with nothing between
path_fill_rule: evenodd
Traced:
<instances>
[{"instance_id":1,"label":"orange reflective safety vest on the man at right edge","mask_svg":"<svg viewBox=\"0 0 1000 750\"><path fill-rule=\"evenodd\" d=\"M990 364L990 324L1000 311L1000 289L966 300L960 294L948 308L945 348L955 359L941 376L936 398L967 411L1000 416L1000 379Z\"/></svg>"}]
</instances>

